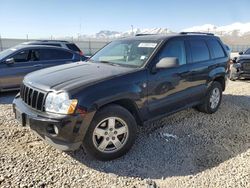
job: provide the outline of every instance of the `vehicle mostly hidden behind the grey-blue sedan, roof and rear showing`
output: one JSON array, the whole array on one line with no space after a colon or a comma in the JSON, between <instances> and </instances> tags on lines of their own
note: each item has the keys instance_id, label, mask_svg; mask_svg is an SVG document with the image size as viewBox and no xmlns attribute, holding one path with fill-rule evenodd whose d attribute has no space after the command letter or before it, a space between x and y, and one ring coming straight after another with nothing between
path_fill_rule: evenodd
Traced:
<instances>
[{"instance_id":1,"label":"vehicle mostly hidden behind the grey-blue sedan, roof and rear showing","mask_svg":"<svg viewBox=\"0 0 250 188\"><path fill-rule=\"evenodd\" d=\"M78 48L78 46L73 42L68 42L64 40L35 40L31 42L25 42L26 45L48 45L66 48L79 53L82 56L82 60L86 60L87 57L83 55L83 52Z\"/></svg>"}]
</instances>

